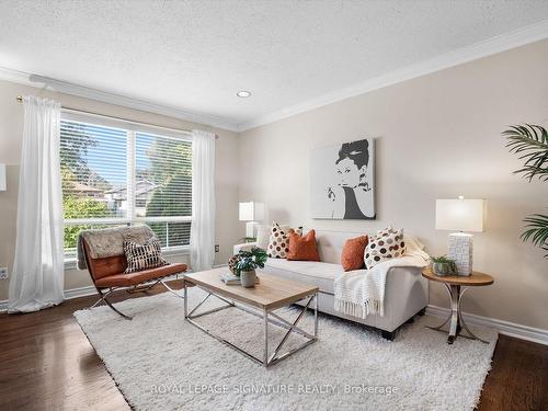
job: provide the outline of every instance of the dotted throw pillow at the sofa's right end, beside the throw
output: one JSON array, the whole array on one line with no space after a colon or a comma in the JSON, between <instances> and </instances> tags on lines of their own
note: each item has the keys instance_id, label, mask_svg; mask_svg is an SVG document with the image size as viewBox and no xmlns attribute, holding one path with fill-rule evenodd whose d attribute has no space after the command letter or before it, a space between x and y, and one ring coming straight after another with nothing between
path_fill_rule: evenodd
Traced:
<instances>
[{"instance_id":1,"label":"dotted throw pillow at the sofa's right end, beside the throw","mask_svg":"<svg viewBox=\"0 0 548 411\"><path fill-rule=\"evenodd\" d=\"M365 265L367 269L373 269L383 261L403 255L404 252L403 229L395 230L388 227L369 237L369 242L365 248Z\"/></svg>"}]
</instances>

